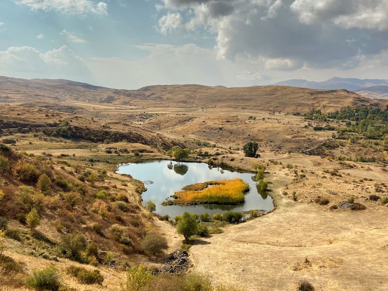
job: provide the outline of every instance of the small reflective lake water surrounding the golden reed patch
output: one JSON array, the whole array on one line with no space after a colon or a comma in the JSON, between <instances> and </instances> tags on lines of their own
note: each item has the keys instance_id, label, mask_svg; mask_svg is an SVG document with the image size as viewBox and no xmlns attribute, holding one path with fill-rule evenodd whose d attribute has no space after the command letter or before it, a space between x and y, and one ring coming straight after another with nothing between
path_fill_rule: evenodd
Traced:
<instances>
[{"instance_id":1,"label":"small reflective lake water surrounding the golden reed patch","mask_svg":"<svg viewBox=\"0 0 388 291\"><path fill-rule=\"evenodd\" d=\"M147 191L143 192L143 205L152 201L156 205L156 213L170 215L174 218L184 211L195 214L208 212L209 214L231 211L272 210L274 204L271 196L265 192L258 193L256 184L252 180L252 173L233 172L220 167L212 167L207 163L174 162L166 160L130 163L119 165L116 173L129 174L133 178L144 182ZM184 186L211 180L241 178L249 184L250 191L245 194L245 202L239 205L200 204L193 206L168 205L163 206L166 199L180 191ZM271 184L269 184L271 189Z\"/></svg>"}]
</instances>

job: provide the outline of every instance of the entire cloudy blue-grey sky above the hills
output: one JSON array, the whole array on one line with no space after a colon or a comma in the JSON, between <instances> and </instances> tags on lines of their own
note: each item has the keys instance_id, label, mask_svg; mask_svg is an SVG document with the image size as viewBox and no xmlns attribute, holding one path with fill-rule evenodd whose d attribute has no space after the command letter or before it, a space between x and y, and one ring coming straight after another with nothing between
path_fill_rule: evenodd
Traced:
<instances>
[{"instance_id":1,"label":"entire cloudy blue-grey sky above the hills","mask_svg":"<svg viewBox=\"0 0 388 291\"><path fill-rule=\"evenodd\" d=\"M388 1L0 0L0 76L119 89L388 79Z\"/></svg>"}]
</instances>

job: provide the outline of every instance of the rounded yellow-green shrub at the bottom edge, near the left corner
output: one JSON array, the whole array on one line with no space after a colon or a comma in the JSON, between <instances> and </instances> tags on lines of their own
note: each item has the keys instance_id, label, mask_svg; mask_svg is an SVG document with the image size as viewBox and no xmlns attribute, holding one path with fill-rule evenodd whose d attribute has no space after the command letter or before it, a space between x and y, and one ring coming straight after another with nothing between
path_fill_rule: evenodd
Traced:
<instances>
[{"instance_id":1,"label":"rounded yellow-green shrub at the bottom edge, near the left corner","mask_svg":"<svg viewBox=\"0 0 388 291\"><path fill-rule=\"evenodd\" d=\"M33 271L32 275L26 278L26 286L36 290L58 291L62 286L61 277L57 269L47 267Z\"/></svg>"}]
</instances>

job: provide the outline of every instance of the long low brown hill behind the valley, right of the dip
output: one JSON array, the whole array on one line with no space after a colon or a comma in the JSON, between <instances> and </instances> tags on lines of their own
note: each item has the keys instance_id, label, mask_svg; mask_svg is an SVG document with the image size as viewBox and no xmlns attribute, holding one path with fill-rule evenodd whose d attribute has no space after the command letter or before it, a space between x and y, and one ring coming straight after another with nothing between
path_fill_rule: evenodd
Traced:
<instances>
[{"instance_id":1,"label":"long low brown hill behind the valley, right of the dip","mask_svg":"<svg viewBox=\"0 0 388 291\"><path fill-rule=\"evenodd\" d=\"M170 107L235 107L275 112L323 112L344 106L379 106L380 102L346 90L313 90L289 86L219 88L200 85L148 86L116 90L113 103L134 106L158 104Z\"/></svg>"}]
</instances>

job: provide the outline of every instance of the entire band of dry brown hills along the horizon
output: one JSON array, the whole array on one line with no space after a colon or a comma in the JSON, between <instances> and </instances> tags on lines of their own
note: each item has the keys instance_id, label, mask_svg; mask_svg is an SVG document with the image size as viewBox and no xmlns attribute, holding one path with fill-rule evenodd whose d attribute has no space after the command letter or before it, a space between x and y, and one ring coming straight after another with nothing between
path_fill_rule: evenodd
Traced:
<instances>
[{"instance_id":1,"label":"entire band of dry brown hills along the horizon","mask_svg":"<svg viewBox=\"0 0 388 291\"><path fill-rule=\"evenodd\" d=\"M135 107L228 107L275 112L323 112L344 106L382 106L385 103L346 90L317 90L289 86L210 87L203 85L153 85L137 90L117 90L68 80L0 77L0 102L46 106L76 106L78 102Z\"/></svg>"}]
</instances>

